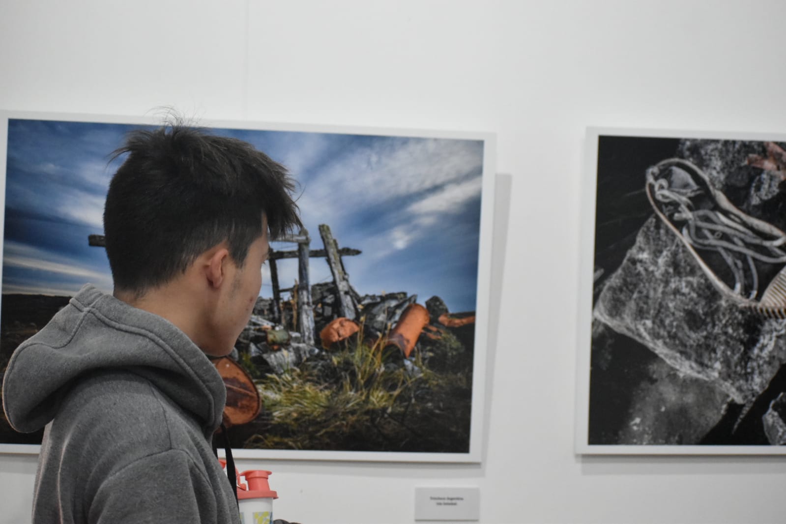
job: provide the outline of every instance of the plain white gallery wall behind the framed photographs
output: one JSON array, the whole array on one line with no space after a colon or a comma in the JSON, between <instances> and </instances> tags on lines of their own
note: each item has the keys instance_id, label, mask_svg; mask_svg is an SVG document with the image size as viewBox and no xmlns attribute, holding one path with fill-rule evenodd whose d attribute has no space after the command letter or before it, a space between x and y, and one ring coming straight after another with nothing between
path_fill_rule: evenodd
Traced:
<instances>
[{"instance_id":1,"label":"plain white gallery wall behind the framed photographs","mask_svg":"<svg viewBox=\"0 0 786 524\"><path fill-rule=\"evenodd\" d=\"M586 126L786 132L786 2L0 3L0 108L497 134L484 460L244 462L277 518L413 522L479 486L481 522L782 522L786 457L574 453ZM582 334L586 335L586 334ZM0 456L29 522L35 456Z\"/></svg>"}]
</instances>

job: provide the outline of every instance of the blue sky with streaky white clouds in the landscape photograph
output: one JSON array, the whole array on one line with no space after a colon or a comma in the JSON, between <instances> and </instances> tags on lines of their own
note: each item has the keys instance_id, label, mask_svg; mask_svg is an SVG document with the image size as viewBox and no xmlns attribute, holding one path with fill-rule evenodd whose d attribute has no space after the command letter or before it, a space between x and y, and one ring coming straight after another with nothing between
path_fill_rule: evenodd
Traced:
<instances>
[{"instance_id":1,"label":"blue sky with streaky white clouds in the landscape photograph","mask_svg":"<svg viewBox=\"0 0 786 524\"><path fill-rule=\"evenodd\" d=\"M85 282L112 290L103 233L109 153L136 126L11 119L6 166L2 292L73 295ZM451 311L475 310L483 141L292 131L216 129L248 141L289 168L312 249L330 226L361 294L432 295ZM292 244L274 244L278 250ZM281 287L296 259L278 263ZM263 270L261 295L270 296ZM311 283L331 280L324 258L310 260Z\"/></svg>"}]
</instances>

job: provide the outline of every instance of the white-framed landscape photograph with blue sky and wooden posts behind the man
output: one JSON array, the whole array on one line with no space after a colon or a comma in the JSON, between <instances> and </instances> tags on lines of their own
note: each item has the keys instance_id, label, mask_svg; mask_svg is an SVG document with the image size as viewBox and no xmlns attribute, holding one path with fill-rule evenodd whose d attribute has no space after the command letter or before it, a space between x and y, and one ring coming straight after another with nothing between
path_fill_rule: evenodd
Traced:
<instances>
[{"instance_id":1,"label":"white-framed landscape photograph with blue sky and wooden posts behind the man","mask_svg":"<svg viewBox=\"0 0 786 524\"><path fill-rule=\"evenodd\" d=\"M130 130L160 124L0 113L0 373L83 284L112 292L102 214L124 157L111 153ZM288 167L305 225L271 242L224 363L251 389L232 389L216 364L236 409L234 455L480 462L494 135L194 125ZM261 409L243 412L238 393ZM0 419L2 453L37 453L41 438Z\"/></svg>"}]
</instances>

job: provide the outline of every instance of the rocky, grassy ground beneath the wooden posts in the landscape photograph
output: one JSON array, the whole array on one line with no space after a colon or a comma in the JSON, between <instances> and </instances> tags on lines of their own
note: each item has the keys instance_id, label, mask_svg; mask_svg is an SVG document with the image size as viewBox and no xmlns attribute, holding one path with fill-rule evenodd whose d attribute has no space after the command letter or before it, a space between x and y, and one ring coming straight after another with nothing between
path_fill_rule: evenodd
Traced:
<instances>
[{"instance_id":1,"label":"rocky, grassy ground beneath the wooden posts in the landscape photograph","mask_svg":"<svg viewBox=\"0 0 786 524\"><path fill-rule=\"evenodd\" d=\"M318 335L336 312L330 286L314 288ZM262 314L252 317L233 357L255 379L264 407L252 422L230 429L232 442L267 449L466 453L474 315L450 315L438 297L427 300L428 324L405 357L384 340L416 303L417 296L406 293L358 297L360 330L329 346L316 336L317 345L310 346L292 326L266 320L270 305L260 299L256 313ZM364 370L365 357L358 363L358 351L379 358L371 361L373 369ZM309 390L321 393L299 395ZM277 416L283 411L291 414L287 420Z\"/></svg>"}]
</instances>

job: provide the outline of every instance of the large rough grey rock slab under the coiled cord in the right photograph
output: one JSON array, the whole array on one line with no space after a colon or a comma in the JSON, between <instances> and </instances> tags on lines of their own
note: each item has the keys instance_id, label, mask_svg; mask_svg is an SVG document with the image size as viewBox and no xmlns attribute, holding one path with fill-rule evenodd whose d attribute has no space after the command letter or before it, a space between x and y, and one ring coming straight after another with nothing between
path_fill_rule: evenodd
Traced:
<instances>
[{"instance_id":1,"label":"large rough grey rock slab under the coiled cord in the right photograph","mask_svg":"<svg viewBox=\"0 0 786 524\"><path fill-rule=\"evenodd\" d=\"M655 217L606 282L593 313L738 403L752 401L786 362L786 321L762 319L725 299Z\"/></svg>"}]
</instances>

